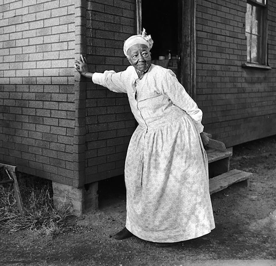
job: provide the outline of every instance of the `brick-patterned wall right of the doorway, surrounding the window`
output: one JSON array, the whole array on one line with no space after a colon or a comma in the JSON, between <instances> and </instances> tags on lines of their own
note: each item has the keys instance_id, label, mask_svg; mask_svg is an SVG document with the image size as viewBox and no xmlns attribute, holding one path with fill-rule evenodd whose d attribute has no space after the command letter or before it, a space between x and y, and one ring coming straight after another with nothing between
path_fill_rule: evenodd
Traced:
<instances>
[{"instance_id":1,"label":"brick-patterned wall right of the doorway, surrounding the window","mask_svg":"<svg viewBox=\"0 0 276 266\"><path fill-rule=\"evenodd\" d=\"M226 146L276 134L276 2L268 1L268 64L246 69L246 0L199 0L196 101L205 131Z\"/></svg>"}]
</instances>

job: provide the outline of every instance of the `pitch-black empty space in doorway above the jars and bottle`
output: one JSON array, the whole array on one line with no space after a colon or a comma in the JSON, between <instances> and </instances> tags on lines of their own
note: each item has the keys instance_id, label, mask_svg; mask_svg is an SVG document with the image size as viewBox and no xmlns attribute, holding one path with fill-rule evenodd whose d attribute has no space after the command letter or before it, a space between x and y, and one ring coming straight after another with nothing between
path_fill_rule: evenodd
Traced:
<instances>
[{"instance_id":1,"label":"pitch-black empty space in doorway above the jars and bottle","mask_svg":"<svg viewBox=\"0 0 276 266\"><path fill-rule=\"evenodd\" d=\"M152 59L179 55L179 3L178 1L142 0L142 29L154 41Z\"/></svg>"}]
</instances>

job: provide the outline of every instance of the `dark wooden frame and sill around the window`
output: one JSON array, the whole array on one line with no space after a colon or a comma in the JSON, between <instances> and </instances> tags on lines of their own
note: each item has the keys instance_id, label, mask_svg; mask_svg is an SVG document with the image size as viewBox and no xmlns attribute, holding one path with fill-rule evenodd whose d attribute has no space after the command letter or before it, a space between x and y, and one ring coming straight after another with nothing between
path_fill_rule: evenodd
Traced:
<instances>
[{"instance_id":1,"label":"dark wooden frame and sill around the window","mask_svg":"<svg viewBox=\"0 0 276 266\"><path fill-rule=\"evenodd\" d=\"M256 0L247 0L246 4L251 4L252 6L262 7L262 40L261 40L261 55L260 58L262 59L263 63L254 63L254 62L246 62L242 64L242 67L250 67L250 68L261 68L261 69L271 69L268 65L268 44L267 44L267 35L268 35L268 20L267 20L267 1L265 4L257 2ZM246 23L246 21L245 21ZM246 24L245 24L246 25ZM245 28L246 31L246 28ZM246 38L246 37L245 37ZM248 46L246 45L246 51ZM247 60L247 59L246 59Z\"/></svg>"}]
</instances>

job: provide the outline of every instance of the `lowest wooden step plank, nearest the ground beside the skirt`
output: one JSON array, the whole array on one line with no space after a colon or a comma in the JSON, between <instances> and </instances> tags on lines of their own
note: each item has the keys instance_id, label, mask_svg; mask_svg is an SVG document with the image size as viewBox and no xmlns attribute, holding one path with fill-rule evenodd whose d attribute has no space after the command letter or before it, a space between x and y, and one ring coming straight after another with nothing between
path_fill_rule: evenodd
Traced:
<instances>
[{"instance_id":1,"label":"lowest wooden step plank, nearest the ground beside the skirt","mask_svg":"<svg viewBox=\"0 0 276 266\"><path fill-rule=\"evenodd\" d=\"M227 173L223 173L219 176L215 176L209 179L209 191L210 194L216 193L229 187L230 185L247 180L247 186L249 185L249 178L252 175L250 172L241 170L231 170Z\"/></svg>"}]
</instances>

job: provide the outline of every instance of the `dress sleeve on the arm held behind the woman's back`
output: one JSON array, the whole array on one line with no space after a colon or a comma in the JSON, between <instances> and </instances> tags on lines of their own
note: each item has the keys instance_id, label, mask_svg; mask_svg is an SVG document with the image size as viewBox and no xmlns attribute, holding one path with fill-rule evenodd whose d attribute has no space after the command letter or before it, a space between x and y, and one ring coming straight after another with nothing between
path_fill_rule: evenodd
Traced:
<instances>
[{"instance_id":1,"label":"dress sleeve on the arm held behind the woman's back","mask_svg":"<svg viewBox=\"0 0 276 266\"><path fill-rule=\"evenodd\" d=\"M202 111L198 108L196 102L186 92L184 87L177 80L172 70L168 69L167 75L164 77L163 93L173 102L174 105L184 110L193 118L199 133L204 129L201 124Z\"/></svg>"}]
</instances>

